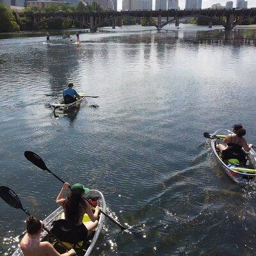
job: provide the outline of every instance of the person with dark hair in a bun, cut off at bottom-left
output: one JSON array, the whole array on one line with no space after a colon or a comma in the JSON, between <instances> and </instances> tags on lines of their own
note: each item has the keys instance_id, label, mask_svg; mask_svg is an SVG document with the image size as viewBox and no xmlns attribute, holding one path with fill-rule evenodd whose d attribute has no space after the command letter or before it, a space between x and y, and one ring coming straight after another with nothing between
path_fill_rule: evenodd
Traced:
<instances>
[{"instance_id":1,"label":"person with dark hair in a bun, cut off at bottom-left","mask_svg":"<svg viewBox=\"0 0 256 256\"><path fill-rule=\"evenodd\" d=\"M20 248L24 256L71 256L76 255L74 249L66 253L58 253L49 242L40 242L40 235L43 230L44 223L36 220L33 216L29 216L27 220L27 233L20 242Z\"/></svg>"}]
</instances>

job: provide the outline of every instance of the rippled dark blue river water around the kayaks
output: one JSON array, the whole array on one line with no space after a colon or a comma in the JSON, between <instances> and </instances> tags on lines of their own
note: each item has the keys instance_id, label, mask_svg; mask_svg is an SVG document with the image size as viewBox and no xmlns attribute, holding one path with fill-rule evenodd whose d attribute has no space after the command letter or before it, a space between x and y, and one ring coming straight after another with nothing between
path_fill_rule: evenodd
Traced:
<instances>
[{"instance_id":1,"label":"rippled dark blue river water around the kayaks","mask_svg":"<svg viewBox=\"0 0 256 256\"><path fill-rule=\"evenodd\" d=\"M31 150L140 230L106 220L93 255L255 255L256 188L234 184L202 134L239 122L256 144L256 30L106 30L80 45L0 40L1 186L40 219L56 209L61 183L25 159ZM45 93L70 82L100 97L54 116ZM10 255L26 215L2 200L0 214L0 255Z\"/></svg>"}]
</instances>

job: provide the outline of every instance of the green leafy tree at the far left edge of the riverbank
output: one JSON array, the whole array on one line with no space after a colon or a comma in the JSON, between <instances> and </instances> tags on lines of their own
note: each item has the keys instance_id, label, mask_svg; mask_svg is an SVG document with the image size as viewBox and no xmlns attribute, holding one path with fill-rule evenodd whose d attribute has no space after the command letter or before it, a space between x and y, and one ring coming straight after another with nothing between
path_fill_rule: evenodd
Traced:
<instances>
[{"instance_id":1,"label":"green leafy tree at the far left edge of the riverbank","mask_svg":"<svg viewBox=\"0 0 256 256\"><path fill-rule=\"evenodd\" d=\"M0 32L19 31L19 29L10 8L0 4Z\"/></svg>"}]
</instances>

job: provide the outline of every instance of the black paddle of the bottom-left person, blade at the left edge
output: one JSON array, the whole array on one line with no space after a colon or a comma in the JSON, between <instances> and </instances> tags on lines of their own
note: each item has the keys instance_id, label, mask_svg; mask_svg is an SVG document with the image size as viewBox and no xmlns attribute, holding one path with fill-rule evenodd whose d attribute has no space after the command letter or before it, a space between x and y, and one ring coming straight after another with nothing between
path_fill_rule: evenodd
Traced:
<instances>
[{"instance_id":1,"label":"black paddle of the bottom-left person, blade at the left edge","mask_svg":"<svg viewBox=\"0 0 256 256\"><path fill-rule=\"evenodd\" d=\"M20 209L20 210L24 211L28 216L31 216L31 214L27 210L24 209L24 207L22 206L22 204L20 202L19 196L17 196L17 194L12 189L5 187L5 186L1 186L0 187L0 196L4 200L4 202L6 202L8 205L12 206L15 209ZM63 244L56 236L54 236L54 234L52 234L52 232L50 230L48 230L45 227L43 227L43 228L48 234L50 234L52 237L54 237L58 241L58 243L61 244L61 246L63 246L67 250L69 250L67 248L67 246L65 246L65 244Z\"/></svg>"}]
</instances>

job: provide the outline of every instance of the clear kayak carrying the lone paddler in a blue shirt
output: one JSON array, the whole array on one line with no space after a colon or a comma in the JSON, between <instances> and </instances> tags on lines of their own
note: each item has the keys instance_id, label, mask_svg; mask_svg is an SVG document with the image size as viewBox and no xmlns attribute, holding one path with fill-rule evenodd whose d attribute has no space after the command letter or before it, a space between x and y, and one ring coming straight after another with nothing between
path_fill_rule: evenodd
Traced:
<instances>
[{"instance_id":1,"label":"clear kayak carrying the lone paddler in a blue shirt","mask_svg":"<svg viewBox=\"0 0 256 256\"><path fill-rule=\"evenodd\" d=\"M70 104L65 104L63 97L60 97L52 101L50 103L50 106L55 113L65 113L70 111L71 109L79 108L82 100L86 98L86 93L79 93L79 95L81 95L81 98Z\"/></svg>"}]
</instances>

